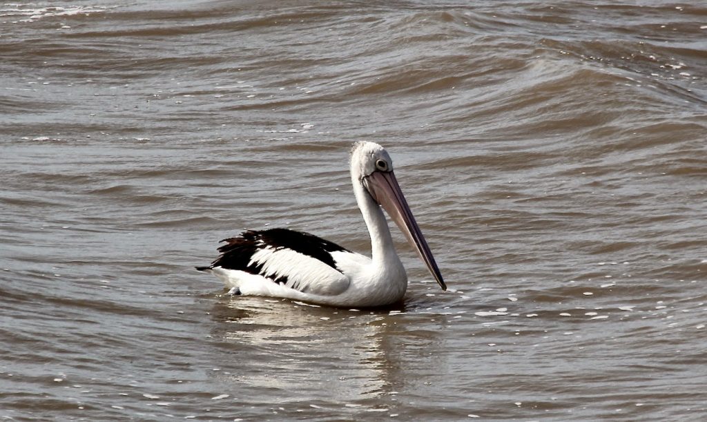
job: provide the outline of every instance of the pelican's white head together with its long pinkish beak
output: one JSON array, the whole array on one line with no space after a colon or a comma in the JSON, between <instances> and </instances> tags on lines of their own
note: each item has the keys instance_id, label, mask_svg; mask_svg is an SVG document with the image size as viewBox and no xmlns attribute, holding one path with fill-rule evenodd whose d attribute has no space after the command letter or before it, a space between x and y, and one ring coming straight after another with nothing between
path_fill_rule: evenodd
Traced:
<instances>
[{"instance_id":1,"label":"pelican's white head together with its long pinkish beak","mask_svg":"<svg viewBox=\"0 0 707 422\"><path fill-rule=\"evenodd\" d=\"M430 247L395 178L393 162L385 148L373 142L354 143L351 148L351 179L354 183L361 183L373 201L385 209L427 265L442 290L447 290Z\"/></svg>"}]
</instances>

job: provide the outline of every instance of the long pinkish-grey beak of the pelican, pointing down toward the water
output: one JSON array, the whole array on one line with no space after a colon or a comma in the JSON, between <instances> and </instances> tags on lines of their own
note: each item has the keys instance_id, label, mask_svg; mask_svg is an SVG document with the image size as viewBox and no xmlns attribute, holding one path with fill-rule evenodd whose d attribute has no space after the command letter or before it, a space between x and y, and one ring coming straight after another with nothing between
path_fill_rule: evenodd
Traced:
<instances>
[{"instance_id":1,"label":"long pinkish-grey beak of the pelican, pointing down toward the water","mask_svg":"<svg viewBox=\"0 0 707 422\"><path fill-rule=\"evenodd\" d=\"M395 179L393 172L373 172L365 177L364 182L368 192L388 213L388 216L395 221L400 231L404 233L407 241L415 248L420 259L427 265L430 274L437 280L443 291L447 290L447 285L442 279L442 274L437 267L430 247L422 235L422 232L412 216L412 211L405 201L405 197L400 190L400 186Z\"/></svg>"}]
</instances>

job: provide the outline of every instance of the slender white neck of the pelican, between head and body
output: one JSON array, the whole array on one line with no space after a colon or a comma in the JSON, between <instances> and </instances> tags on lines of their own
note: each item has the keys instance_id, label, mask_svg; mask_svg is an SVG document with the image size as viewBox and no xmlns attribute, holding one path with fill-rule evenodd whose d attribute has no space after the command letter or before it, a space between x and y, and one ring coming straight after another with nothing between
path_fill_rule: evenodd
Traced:
<instances>
[{"instance_id":1,"label":"slender white neck of the pelican, between head and body","mask_svg":"<svg viewBox=\"0 0 707 422\"><path fill-rule=\"evenodd\" d=\"M361 180L351 175L351 181L354 184L354 194L356 194L358 208L361 209L363 221L366 221L366 226L368 227L373 264L378 266L384 265L386 262L399 262L400 259L395 252L390 228L388 228L383 210L363 188Z\"/></svg>"}]
</instances>

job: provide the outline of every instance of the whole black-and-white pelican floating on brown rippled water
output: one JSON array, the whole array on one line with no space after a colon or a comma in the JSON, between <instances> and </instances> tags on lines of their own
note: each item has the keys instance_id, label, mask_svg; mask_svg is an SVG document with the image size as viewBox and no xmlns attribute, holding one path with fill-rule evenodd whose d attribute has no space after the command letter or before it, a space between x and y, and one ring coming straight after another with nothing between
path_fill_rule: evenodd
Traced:
<instances>
[{"instance_id":1,"label":"whole black-and-white pelican floating on brown rippled water","mask_svg":"<svg viewBox=\"0 0 707 422\"><path fill-rule=\"evenodd\" d=\"M395 251L381 206L402 230L443 291L432 252L405 201L385 149L373 142L351 148L351 182L370 234L371 257L286 228L247 230L221 240L221 254L199 271L214 274L235 295L301 300L334 307L397 303L407 274Z\"/></svg>"}]
</instances>

